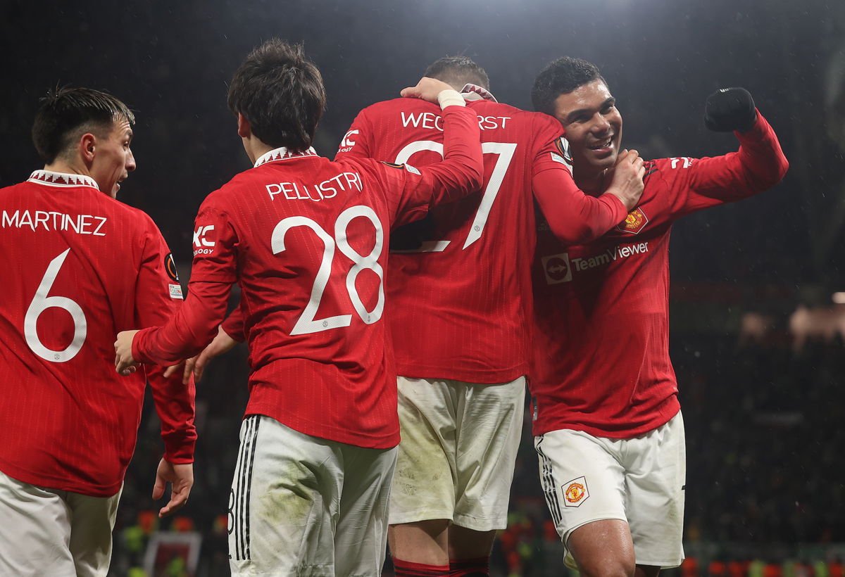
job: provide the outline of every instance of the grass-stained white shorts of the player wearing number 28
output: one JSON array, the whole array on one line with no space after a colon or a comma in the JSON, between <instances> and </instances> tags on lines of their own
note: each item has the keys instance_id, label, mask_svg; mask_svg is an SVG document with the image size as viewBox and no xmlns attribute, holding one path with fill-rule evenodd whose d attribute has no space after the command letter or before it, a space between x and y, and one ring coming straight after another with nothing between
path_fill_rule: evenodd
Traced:
<instances>
[{"instance_id":1,"label":"grass-stained white shorts of the player wearing number 28","mask_svg":"<svg viewBox=\"0 0 845 577\"><path fill-rule=\"evenodd\" d=\"M232 574L381 574L395 464L395 447L363 449L247 416L229 493Z\"/></svg>"}]
</instances>

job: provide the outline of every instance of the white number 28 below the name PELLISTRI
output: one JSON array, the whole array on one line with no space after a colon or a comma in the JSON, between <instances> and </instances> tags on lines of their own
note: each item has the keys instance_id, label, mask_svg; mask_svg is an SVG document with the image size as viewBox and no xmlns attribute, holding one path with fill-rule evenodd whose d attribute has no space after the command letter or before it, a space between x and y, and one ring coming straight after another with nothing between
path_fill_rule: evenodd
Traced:
<instances>
[{"instance_id":1,"label":"white number 28 below the name PELLISTRI","mask_svg":"<svg viewBox=\"0 0 845 577\"><path fill-rule=\"evenodd\" d=\"M370 220L375 227L375 245L373 246L373 250L366 256L355 252L355 249L350 246L349 241L346 239L346 227L349 226L352 219L359 216ZM384 270L379 264L379 256L384 246L384 231L381 228L379 216L375 214L375 211L363 204L351 206L344 210L338 215L335 221L334 237L307 216L288 216L286 219L280 220L279 224L273 229L273 235L270 238L270 246L273 249L273 254L285 251L285 235L294 226L307 226L310 228L323 241L324 248L323 259L320 261L317 276L311 288L311 298L308 300L308 305L306 305L303 313L297 318L297 323L294 324L291 335L318 333L322 330L347 327L352 323L351 314L315 318L317 316L319 302L322 300L325 287L329 284L331 278L331 263L335 259L335 246L340 248L341 253L344 253L353 263L352 268L346 273L346 291L349 292L349 298L352 300L352 306L355 308L355 312L358 313L358 316L366 324L373 324L378 321L384 311ZM379 300L376 302L372 311L368 311L367 307L364 306L361 296L355 287L355 280L357 279L358 273L364 269L372 270L376 275L379 275Z\"/></svg>"}]
</instances>

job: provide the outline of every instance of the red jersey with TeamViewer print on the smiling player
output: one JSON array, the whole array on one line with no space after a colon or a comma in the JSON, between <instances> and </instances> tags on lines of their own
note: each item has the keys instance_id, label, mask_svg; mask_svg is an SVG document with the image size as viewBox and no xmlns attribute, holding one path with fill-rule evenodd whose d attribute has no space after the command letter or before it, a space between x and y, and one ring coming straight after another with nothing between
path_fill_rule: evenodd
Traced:
<instances>
[{"instance_id":1,"label":"red jersey with TeamViewer print on the smiling player","mask_svg":"<svg viewBox=\"0 0 845 577\"><path fill-rule=\"evenodd\" d=\"M565 247L538 226L534 434L631 438L678 411L668 347L669 231L680 216L771 188L788 163L768 122L739 152L646 162L640 204L597 242Z\"/></svg>"}]
</instances>

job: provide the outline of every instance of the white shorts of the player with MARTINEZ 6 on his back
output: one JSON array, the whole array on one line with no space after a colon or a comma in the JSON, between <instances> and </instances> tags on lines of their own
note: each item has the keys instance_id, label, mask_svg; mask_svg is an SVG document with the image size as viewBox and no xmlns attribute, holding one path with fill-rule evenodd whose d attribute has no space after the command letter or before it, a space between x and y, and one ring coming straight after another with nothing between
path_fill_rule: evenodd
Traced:
<instances>
[{"instance_id":1,"label":"white shorts of the player with MARTINEZ 6 on his back","mask_svg":"<svg viewBox=\"0 0 845 577\"><path fill-rule=\"evenodd\" d=\"M0 472L0 575L105 576L119 500L119 492L90 497Z\"/></svg>"}]
</instances>

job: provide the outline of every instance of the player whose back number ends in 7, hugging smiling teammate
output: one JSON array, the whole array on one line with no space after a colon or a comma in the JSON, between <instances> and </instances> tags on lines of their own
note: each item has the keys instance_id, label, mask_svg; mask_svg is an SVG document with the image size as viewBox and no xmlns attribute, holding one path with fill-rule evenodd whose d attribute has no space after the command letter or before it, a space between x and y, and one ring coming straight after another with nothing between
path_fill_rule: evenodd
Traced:
<instances>
[{"instance_id":1,"label":"player whose back number ends in 7, hugging smiling teammate","mask_svg":"<svg viewBox=\"0 0 845 577\"><path fill-rule=\"evenodd\" d=\"M486 566L495 531L506 526L531 357L534 199L563 242L589 242L624 220L642 190L632 151L606 193L581 193L559 122L497 102L469 58L441 58L425 75L462 87L481 128L484 183L433 207L418 246L397 246L402 230L391 240L386 291L402 428L390 494L397 575L404 562L429 574L446 574L450 561ZM424 166L442 154L438 107L400 98L360 112L336 159Z\"/></svg>"}]
</instances>

